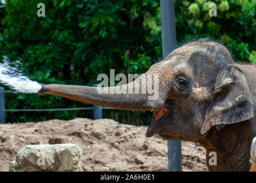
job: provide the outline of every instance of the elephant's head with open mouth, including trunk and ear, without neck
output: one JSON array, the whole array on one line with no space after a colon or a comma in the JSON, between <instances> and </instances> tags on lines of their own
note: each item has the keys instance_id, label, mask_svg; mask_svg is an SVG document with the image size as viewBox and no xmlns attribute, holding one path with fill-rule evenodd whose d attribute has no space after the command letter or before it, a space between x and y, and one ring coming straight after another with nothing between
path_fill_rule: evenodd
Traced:
<instances>
[{"instance_id":1,"label":"elephant's head with open mouth, including trunk and ear, without neck","mask_svg":"<svg viewBox=\"0 0 256 183\"><path fill-rule=\"evenodd\" d=\"M158 79L158 97L149 100L149 75ZM155 81L156 82L156 81ZM128 87L139 94L113 93ZM141 77L126 85L104 87L42 85L39 94L54 94L72 100L127 110L154 110L147 137L158 134L166 140L199 140L212 126L233 124L254 117L253 97L246 75L223 45L208 39L187 43L155 63Z\"/></svg>"}]
</instances>

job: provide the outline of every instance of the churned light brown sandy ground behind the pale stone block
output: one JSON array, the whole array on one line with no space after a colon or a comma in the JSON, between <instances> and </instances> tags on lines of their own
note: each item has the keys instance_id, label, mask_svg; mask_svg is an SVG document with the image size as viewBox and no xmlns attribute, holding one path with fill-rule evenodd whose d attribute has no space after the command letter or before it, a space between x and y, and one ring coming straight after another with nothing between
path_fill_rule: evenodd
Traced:
<instances>
[{"instance_id":1,"label":"churned light brown sandy ground behind the pale stone block","mask_svg":"<svg viewBox=\"0 0 256 183\"><path fill-rule=\"evenodd\" d=\"M76 118L38 123L0 125L0 171L22 146L29 144L77 144L84 152L85 171L167 171L167 141L146 138L147 128L116 121ZM183 171L207 171L206 150L194 142L182 142Z\"/></svg>"}]
</instances>

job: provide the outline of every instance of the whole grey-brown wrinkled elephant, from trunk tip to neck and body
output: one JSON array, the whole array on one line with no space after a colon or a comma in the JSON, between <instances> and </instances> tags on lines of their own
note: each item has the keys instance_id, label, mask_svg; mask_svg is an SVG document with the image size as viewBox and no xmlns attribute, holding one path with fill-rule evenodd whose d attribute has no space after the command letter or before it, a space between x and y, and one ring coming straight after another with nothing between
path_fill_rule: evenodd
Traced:
<instances>
[{"instance_id":1,"label":"whole grey-brown wrinkled elephant, from trunk tip to neck and body","mask_svg":"<svg viewBox=\"0 0 256 183\"><path fill-rule=\"evenodd\" d=\"M199 39L172 51L128 85L144 90L139 81L152 73L159 74L155 101L148 100L148 93L98 94L96 87L73 85L42 85L38 94L117 109L154 110L147 137L158 134L165 140L198 141L207 150L210 171L248 171L256 136L256 67L234 63L224 46ZM166 112L156 119L162 109ZM217 165L209 165L210 152L216 152Z\"/></svg>"}]
</instances>

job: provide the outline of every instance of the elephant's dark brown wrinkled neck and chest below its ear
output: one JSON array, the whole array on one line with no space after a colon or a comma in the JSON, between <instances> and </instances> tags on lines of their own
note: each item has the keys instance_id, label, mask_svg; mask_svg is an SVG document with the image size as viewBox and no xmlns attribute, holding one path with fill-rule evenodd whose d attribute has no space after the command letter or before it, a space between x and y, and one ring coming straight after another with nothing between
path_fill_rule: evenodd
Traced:
<instances>
[{"instance_id":1,"label":"elephant's dark brown wrinkled neck and chest below its ear","mask_svg":"<svg viewBox=\"0 0 256 183\"><path fill-rule=\"evenodd\" d=\"M206 148L206 165L210 171L249 171L253 132L250 120L237 124L215 126L199 140ZM213 164L214 153L216 164Z\"/></svg>"}]
</instances>

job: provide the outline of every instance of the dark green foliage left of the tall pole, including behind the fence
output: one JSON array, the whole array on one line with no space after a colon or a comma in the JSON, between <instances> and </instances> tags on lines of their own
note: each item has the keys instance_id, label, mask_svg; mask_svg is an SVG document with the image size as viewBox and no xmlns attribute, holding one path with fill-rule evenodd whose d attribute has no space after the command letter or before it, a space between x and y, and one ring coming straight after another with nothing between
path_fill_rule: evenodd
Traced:
<instances>
[{"instance_id":1,"label":"dark green foliage left of the tall pole, including behind the fence","mask_svg":"<svg viewBox=\"0 0 256 183\"><path fill-rule=\"evenodd\" d=\"M0 55L22 58L30 78L41 83L88 85L100 73L144 73L161 58L158 0L9 0L0 9ZM37 17L37 3L45 17ZM91 106L55 96L6 94L6 109ZM115 113L117 115L113 115ZM104 111L104 117L148 124L148 114ZM92 118L92 111L7 113L8 122Z\"/></svg>"}]
</instances>

